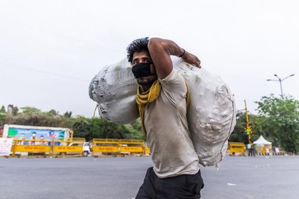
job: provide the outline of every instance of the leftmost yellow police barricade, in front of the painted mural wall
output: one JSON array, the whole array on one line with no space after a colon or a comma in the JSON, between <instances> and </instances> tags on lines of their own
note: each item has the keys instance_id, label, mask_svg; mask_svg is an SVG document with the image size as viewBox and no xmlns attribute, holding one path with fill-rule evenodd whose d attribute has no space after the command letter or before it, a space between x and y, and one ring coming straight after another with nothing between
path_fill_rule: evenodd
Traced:
<instances>
[{"instance_id":1,"label":"leftmost yellow police barricade, in front of the painted mural wall","mask_svg":"<svg viewBox=\"0 0 299 199\"><path fill-rule=\"evenodd\" d=\"M51 152L50 140L15 139L11 147L12 157L18 156L49 156Z\"/></svg>"}]
</instances>

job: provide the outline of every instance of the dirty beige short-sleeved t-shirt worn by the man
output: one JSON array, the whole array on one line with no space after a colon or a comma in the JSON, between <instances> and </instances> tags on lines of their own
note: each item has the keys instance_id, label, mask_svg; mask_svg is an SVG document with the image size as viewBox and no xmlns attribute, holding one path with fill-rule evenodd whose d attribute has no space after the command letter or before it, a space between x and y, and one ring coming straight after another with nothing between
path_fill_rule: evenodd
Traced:
<instances>
[{"instance_id":1,"label":"dirty beige short-sleeved t-shirt worn by the man","mask_svg":"<svg viewBox=\"0 0 299 199\"><path fill-rule=\"evenodd\" d=\"M160 178L196 174L199 158L188 129L185 80L173 69L159 81L161 92L144 115L153 170Z\"/></svg>"}]
</instances>

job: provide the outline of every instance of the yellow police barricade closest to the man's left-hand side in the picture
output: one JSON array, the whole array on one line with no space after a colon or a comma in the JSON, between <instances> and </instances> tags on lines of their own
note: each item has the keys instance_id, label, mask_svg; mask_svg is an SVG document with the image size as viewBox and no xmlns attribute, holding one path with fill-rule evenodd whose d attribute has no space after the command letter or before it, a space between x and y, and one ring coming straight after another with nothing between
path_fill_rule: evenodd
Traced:
<instances>
[{"instance_id":1,"label":"yellow police barricade closest to the man's left-hand side in the picture","mask_svg":"<svg viewBox=\"0 0 299 199\"><path fill-rule=\"evenodd\" d=\"M139 154L145 155L144 150L144 141L143 140L119 140L119 155L131 155L131 154Z\"/></svg>"}]
</instances>

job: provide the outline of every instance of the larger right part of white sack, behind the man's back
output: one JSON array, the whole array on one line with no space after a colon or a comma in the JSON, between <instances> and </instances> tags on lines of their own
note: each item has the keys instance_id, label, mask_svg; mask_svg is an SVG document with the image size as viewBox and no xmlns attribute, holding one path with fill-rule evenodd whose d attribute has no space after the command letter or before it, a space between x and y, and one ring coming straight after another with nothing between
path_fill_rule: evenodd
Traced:
<instances>
[{"instance_id":1,"label":"larger right part of white sack, behind the man's back","mask_svg":"<svg viewBox=\"0 0 299 199\"><path fill-rule=\"evenodd\" d=\"M233 94L219 76L190 66L181 59L172 61L189 85L187 119L199 162L203 166L218 166L225 157L227 140L236 125Z\"/></svg>"}]
</instances>

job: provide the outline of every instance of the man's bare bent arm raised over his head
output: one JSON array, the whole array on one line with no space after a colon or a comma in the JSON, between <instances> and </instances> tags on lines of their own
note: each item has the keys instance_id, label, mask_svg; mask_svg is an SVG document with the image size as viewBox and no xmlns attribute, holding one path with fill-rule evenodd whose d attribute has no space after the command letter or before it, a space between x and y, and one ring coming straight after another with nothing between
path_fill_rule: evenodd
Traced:
<instances>
[{"instance_id":1,"label":"man's bare bent arm raised over his head","mask_svg":"<svg viewBox=\"0 0 299 199\"><path fill-rule=\"evenodd\" d=\"M151 38L148 47L159 79L166 78L172 71L173 65L170 55L181 56L184 53L184 49L171 40ZM200 68L200 60L197 56L185 51L181 58Z\"/></svg>"}]
</instances>

